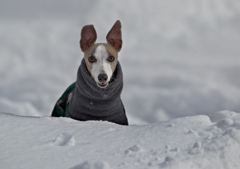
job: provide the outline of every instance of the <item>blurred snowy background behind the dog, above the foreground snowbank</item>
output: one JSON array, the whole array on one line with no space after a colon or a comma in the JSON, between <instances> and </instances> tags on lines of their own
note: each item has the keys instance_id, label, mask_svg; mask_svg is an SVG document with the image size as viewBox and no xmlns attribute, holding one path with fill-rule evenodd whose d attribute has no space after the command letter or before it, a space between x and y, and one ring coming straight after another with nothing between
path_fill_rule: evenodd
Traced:
<instances>
[{"instance_id":1,"label":"blurred snowy background behind the dog, above the foreground snowbank","mask_svg":"<svg viewBox=\"0 0 240 169\"><path fill-rule=\"evenodd\" d=\"M3 0L0 112L50 115L76 79L81 28L105 42L117 19L131 124L240 112L238 0Z\"/></svg>"}]
</instances>

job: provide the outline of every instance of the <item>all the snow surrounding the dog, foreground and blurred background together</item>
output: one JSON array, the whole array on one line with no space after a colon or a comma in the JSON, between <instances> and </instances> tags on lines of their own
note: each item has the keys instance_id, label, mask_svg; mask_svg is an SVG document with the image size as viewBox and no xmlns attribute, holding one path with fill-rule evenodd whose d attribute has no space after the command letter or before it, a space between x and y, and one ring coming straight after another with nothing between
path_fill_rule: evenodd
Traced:
<instances>
[{"instance_id":1,"label":"all the snow surrounding the dog, foreground and blurred background together","mask_svg":"<svg viewBox=\"0 0 240 169\"><path fill-rule=\"evenodd\" d=\"M238 0L2 0L0 168L238 169L239 18ZM117 19L131 125L49 117L81 28L105 42Z\"/></svg>"}]
</instances>

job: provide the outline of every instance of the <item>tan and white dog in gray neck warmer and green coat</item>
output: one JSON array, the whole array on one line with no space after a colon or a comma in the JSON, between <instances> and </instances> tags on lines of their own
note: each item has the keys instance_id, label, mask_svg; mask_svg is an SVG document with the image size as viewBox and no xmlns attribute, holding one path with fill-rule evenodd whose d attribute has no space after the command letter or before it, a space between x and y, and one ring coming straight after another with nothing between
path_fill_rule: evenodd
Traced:
<instances>
[{"instance_id":1,"label":"tan and white dog in gray neck warmer and green coat","mask_svg":"<svg viewBox=\"0 0 240 169\"><path fill-rule=\"evenodd\" d=\"M80 48L84 53L77 80L54 106L52 116L80 121L102 120L128 125L121 100L122 69L118 53L122 48L121 22L117 20L106 36L107 43L95 43L93 25L81 30Z\"/></svg>"}]
</instances>

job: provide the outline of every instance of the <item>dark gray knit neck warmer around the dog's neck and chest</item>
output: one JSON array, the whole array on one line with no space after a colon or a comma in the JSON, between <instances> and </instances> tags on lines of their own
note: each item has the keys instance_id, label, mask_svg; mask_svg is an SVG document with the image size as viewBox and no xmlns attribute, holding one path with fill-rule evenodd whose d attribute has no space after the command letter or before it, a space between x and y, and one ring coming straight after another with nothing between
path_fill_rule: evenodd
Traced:
<instances>
[{"instance_id":1,"label":"dark gray knit neck warmer around the dog's neck and chest","mask_svg":"<svg viewBox=\"0 0 240 169\"><path fill-rule=\"evenodd\" d=\"M83 59L78 69L68 117L81 121L104 120L127 125L127 117L120 99L122 88L123 76L119 62L108 86L99 88Z\"/></svg>"}]
</instances>

